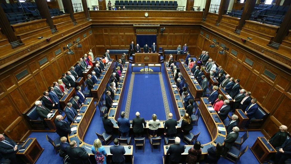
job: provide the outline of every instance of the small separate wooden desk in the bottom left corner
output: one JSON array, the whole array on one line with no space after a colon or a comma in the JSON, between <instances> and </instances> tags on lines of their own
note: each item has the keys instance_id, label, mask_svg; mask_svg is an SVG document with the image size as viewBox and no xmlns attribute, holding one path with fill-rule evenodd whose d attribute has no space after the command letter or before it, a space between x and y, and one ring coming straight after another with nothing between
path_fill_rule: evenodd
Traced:
<instances>
[{"instance_id":1,"label":"small separate wooden desk in the bottom left corner","mask_svg":"<svg viewBox=\"0 0 291 164\"><path fill-rule=\"evenodd\" d=\"M25 150L18 151L17 156L21 157L25 163L35 163L38 157L41 155L44 148L39 145L36 138L28 138L19 150L27 147Z\"/></svg>"}]
</instances>

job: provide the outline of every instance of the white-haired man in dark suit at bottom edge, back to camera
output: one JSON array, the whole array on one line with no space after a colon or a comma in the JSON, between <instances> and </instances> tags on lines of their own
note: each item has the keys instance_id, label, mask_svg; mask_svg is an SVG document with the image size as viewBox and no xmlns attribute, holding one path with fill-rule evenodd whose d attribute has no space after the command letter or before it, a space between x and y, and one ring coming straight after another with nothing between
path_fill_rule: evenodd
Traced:
<instances>
[{"instance_id":1,"label":"white-haired man in dark suit at bottom edge, back to camera","mask_svg":"<svg viewBox=\"0 0 291 164\"><path fill-rule=\"evenodd\" d=\"M184 153L184 145L180 145L180 138L175 138L175 144L171 145L167 151L169 155L169 164L181 163L182 153Z\"/></svg>"}]
</instances>

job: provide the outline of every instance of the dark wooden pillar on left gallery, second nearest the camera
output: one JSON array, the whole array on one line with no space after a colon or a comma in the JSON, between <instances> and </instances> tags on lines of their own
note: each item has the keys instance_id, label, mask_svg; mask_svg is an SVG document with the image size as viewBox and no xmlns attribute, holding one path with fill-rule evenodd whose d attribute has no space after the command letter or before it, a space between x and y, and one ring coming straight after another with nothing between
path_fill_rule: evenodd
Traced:
<instances>
[{"instance_id":1,"label":"dark wooden pillar on left gallery, second nearest the camera","mask_svg":"<svg viewBox=\"0 0 291 164\"><path fill-rule=\"evenodd\" d=\"M54 23L52 22L52 17L49 14L49 7L47 6L46 0L38 0L35 1L37 8L41 14L41 17L43 19L47 19L47 23L49 24L50 30L52 33L57 32L57 29L55 28Z\"/></svg>"}]
</instances>

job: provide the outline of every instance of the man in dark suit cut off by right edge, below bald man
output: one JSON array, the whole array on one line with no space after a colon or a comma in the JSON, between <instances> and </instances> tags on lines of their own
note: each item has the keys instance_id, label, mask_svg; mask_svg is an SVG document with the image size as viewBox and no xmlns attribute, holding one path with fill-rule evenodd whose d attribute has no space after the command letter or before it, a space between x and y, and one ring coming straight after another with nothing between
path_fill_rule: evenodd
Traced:
<instances>
[{"instance_id":1,"label":"man in dark suit cut off by right edge, below bald man","mask_svg":"<svg viewBox=\"0 0 291 164\"><path fill-rule=\"evenodd\" d=\"M275 164L285 163L287 159L291 158L291 138L286 140L275 157Z\"/></svg>"}]
</instances>

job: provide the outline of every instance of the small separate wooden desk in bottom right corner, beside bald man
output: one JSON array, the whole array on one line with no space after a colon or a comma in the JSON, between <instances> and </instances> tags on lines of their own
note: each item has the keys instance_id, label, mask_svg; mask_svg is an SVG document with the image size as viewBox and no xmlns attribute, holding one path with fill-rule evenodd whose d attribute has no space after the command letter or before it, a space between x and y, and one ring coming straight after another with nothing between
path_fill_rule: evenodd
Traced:
<instances>
[{"instance_id":1,"label":"small separate wooden desk in bottom right corner, beside bald man","mask_svg":"<svg viewBox=\"0 0 291 164\"><path fill-rule=\"evenodd\" d=\"M265 137L258 137L250 149L260 163L268 162L270 157L277 152Z\"/></svg>"}]
</instances>

